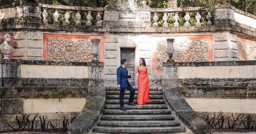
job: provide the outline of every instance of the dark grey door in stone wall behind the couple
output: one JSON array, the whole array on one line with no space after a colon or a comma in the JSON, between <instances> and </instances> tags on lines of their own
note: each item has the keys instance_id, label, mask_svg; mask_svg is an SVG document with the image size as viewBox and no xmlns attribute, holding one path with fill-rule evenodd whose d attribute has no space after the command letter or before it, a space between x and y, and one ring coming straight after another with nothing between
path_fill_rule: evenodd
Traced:
<instances>
[{"instance_id":1,"label":"dark grey door in stone wall behind the couple","mask_svg":"<svg viewBox=\"0 0 256 134\"><path fill-rule=\"evenodd\" d=\"M127 60L128 75L131 75L135 70L135 48L121 48L121 59ZM128 79L129 83L134 86L135 80L134 77Z\"/></svg>"}]
</instances>

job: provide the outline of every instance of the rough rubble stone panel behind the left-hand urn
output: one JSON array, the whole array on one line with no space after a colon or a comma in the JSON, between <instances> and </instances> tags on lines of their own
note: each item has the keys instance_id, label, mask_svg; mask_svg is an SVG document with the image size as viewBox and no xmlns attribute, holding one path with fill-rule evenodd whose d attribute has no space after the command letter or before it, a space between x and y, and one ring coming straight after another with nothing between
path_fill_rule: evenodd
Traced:
<instances>
[{"instance_id":1,"label":"rough rubble stone panel behind the left-hand urn","mask_svg":"<svg viewBox=\"0 0 256 134\"><path fill-rule=\"evenodd\" d=\"M98 48L100 60L100 46ZM90 39L48 38L48 60L50 61L92 61Z\"/></svg>"}]
</instances>

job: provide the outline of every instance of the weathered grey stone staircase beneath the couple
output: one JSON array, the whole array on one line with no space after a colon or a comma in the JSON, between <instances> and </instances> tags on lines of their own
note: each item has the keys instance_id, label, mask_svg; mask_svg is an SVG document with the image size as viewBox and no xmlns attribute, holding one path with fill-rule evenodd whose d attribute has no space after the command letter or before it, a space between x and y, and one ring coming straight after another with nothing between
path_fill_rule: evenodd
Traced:
<instances>
[{"instance_id":1,"label":"weathered grey stone staircase beneath the couple","mask_svg":"<svg viewBox=\"0 0 256 134\"><path fill-rule=\"evenodd\" d=\"M134 103L137 104L135 87ZM100 122L93 134L185 134L185 128L174 120L163 100L162 90L150 89L150 101L146 105L127 105L130 92L125 91L125 109L119 105L119 90L106 88L106 101Z\"/></svg>"}]
</instances>

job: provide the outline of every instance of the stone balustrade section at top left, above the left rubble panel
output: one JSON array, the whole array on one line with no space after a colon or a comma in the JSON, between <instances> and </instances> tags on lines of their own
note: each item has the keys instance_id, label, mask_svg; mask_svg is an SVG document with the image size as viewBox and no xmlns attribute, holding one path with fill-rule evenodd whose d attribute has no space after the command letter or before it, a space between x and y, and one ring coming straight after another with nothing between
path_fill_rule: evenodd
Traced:
<instances>
[{"instance_id":1,"label":"stone balustrade section at top left, above the left rubble panel","mask_svg":"<svg viewBox=\"0 0 256 134\"><path fill-rule=\"evenodd\" d=\"M96 22L96 26L102 26L102 14L104 8L93 8L93 7L75 7L75 6L60 6L60 5L48 5L42 4L42 23L48 24L51 18L49 13L52 13L54 18L53 24L63 25L85 25L93 26L93 21ZM63 17L63 18L61 18ZM84 19L81 20L81 17ZM62 19L62 22L60 22ZM63 19L65 20L63 22ZM70 23L70 21L75 21ZM84 21L84 24L81 24Z\"/></svg>"}]
</instances>

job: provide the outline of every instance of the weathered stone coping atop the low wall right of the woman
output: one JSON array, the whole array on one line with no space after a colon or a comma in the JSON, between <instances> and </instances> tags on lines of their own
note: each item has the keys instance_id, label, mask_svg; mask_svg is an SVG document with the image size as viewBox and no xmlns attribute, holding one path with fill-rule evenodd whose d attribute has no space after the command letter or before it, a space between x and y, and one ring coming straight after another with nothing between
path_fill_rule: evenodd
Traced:
<instances>
[{"instance_id":1,"label":"weathered stone coping atop the low wall right of the woman","mask_svg":"<svg viewBox=\"0 0 256 134\"><path fill-rule=\"evenodd\" d=\"M256 61L163 62L163 66L235 66L256 65Z\"/></svg>"}]
</instances>

